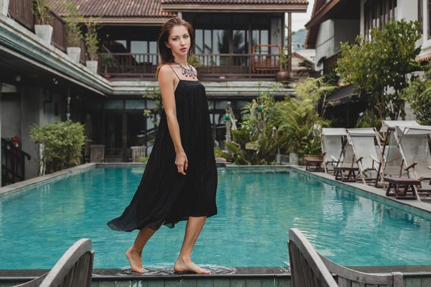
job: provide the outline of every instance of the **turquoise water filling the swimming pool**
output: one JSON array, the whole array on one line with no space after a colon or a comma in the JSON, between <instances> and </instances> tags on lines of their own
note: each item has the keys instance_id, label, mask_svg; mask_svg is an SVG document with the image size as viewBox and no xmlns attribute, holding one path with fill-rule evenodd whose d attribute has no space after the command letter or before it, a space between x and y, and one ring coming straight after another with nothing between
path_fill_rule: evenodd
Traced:
<instances>
[{"instance_id":1,"label":"turquoise water filling the swimming pool","mask_svg":"<svg viewBox=\"0 0 431 287\"><path fill-rule=\"evenodd\" d=\"M124 252L136 232L112 231L106 222L129 203L142 172L97 167L0 197L0 269L51 268L81 237L93 240L94 268L126 267ZM292 227L339 264L431 264L428 215L295 171L218 172L219 214L209 218L196 243L199 264L286 266ZM184 229L185 222L160 228L144 249L145 266L171 266Z\"/></svg>"}]
</instances>

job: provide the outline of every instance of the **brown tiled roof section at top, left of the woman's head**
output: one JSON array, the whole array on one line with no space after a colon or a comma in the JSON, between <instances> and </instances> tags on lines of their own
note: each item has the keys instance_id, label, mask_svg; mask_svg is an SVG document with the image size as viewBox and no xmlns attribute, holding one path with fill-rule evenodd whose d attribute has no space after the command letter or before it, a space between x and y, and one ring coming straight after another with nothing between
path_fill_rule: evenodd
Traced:
<instances>
[{"instance_id":1,"label":"brown tiled roof section at top, left of the woman's head","mask_svg":"<svg viewBox=\"0 0 431 287\"><path fill-rule=\"evenodd\" d=\"M63 16L64 0L50 0L54 11ZM162 10L160 0L74 0L84 17L133 18L174 17L176 14Z\"/></svg>"}]
</instances>

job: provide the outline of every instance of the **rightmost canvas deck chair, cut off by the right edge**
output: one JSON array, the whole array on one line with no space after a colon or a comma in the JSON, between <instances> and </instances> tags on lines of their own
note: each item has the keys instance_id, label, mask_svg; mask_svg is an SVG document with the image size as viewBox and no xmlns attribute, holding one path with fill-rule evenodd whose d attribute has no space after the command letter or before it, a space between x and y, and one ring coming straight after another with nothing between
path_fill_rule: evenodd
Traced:
<instances>
[{"instance_id":1,"label":"rightmost canvas deck chair, cut off by the right edge","mask_svg":"<svg viewBox=\"0 0 431 287\"><path fill-rule=\"evenodd\" d=\"M414 180L421 180L423 184L415 187L417 200L431 200L430 187L424 187L431 180L431 152L430 135L431 126L405 126L395 129L398 138L399 150L403 156L404 169L408 177Z\"/></svg>"}]
</instances>

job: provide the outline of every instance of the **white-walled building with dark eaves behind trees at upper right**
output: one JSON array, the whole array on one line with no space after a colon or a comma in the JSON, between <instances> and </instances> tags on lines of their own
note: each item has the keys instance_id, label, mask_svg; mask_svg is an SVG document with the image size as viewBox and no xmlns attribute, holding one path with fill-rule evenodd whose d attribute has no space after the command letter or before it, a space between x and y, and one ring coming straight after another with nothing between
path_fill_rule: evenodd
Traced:
<instances>
[{"instance_id":1,"label":"white-walled building with dark eaves behind trees at upper right","mask_svg":"<svg viewBox=\"0 0 431 287\"><path fill-rule=\"evenodd\" d=\"M372 28L381 28L392 19L421 23L418 60L431 59L430 3L428 0L315 0L311 20L306 24L306 47L316 51L316 70L323 70L324 74L333 70L341 54L341 43L355 43L359 34L368 39ZM347 120L344 124L353 124L359 111L364 109L361 103L351 105L348 96L352 92L350 86L341 87L328 97L341 104L332 109L339 115L344 114ZM412 119L409 118L412 113L406 111L406 119Z\"/></svg>"}]
</instances>

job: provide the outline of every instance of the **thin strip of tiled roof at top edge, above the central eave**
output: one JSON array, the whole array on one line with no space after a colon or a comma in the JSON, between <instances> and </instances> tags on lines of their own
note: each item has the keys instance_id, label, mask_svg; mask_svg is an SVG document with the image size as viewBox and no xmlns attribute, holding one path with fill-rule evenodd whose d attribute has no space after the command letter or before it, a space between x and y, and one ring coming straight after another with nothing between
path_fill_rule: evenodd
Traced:
<instances>
[{"instance_id":1,"label":"thin strip of tiled roof at top edge, above the central eave","mask_svg":"<svg viewBox=\"0 0 431 287\"><path fill-rule=\"evenodd\" d=\"M200 4L200 5L295 5L308 4L307 0L161 0L163 4Z\"/></svg>"}]
</instances>

